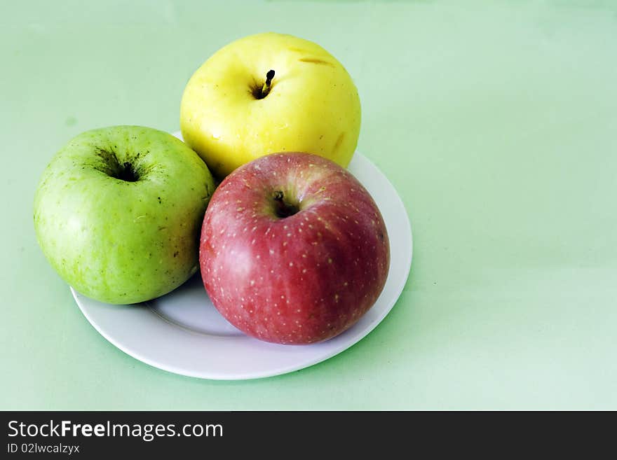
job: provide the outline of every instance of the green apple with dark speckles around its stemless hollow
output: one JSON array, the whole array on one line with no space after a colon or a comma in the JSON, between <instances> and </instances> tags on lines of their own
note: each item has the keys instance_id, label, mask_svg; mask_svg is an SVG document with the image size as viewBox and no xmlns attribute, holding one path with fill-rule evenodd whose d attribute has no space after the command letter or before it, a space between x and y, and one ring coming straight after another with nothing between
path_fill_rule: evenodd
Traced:
<instances>
[{"instance_id":1,"label":"green apple with dark speckles around its stemless hollow","mask_svg":"<svg viewBox=\"0 0 617 460\"><path fill-rule=\"evenodd\" d=\"M214 189L208 167L171 134L138 126L84 132L43 172L36 237L77 291L102 302L143 302L196 272Z\"/></svg>"}]
</instances>

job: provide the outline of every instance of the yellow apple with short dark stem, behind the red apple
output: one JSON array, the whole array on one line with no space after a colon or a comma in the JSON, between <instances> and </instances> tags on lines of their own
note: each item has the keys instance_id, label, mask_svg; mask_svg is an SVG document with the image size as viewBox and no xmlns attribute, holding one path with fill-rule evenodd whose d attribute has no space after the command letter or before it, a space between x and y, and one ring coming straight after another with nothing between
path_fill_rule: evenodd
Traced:
<instances>
[{"instance_id":1,"label":"yellow apple with short dark stem, behind the red apple","mask_svg":"<svg viewBox=\"0 0 617 460\"><path fill-rule=\"evenodd\" d=\"M316 43L257 34L218 50L195 72L182 95L180 129L219 178L284 151L347 167L360 134L360 98L343 65Z\"/></svg>"}]
</instances>

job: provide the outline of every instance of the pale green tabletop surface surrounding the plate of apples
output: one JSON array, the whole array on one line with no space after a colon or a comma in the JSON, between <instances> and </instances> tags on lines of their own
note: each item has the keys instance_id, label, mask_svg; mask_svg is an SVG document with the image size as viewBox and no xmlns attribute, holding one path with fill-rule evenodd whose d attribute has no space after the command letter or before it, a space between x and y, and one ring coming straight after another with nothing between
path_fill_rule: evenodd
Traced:
<instances>
[{"instance_id":1,"label":"pale green tabletop surface surrounding the plate of apples","mask_svg":"<svg viewBox=\"0 0 617 460\"><path fill-rule=\"evenodd\" d=\"M617 4L81 3L0 6L0 408L617 409ZM355 79L359 149L405 202L412 274L324 363L179 377L86 321L36 246L34 189L81 131L177 130L192 72L266 30Z\"/></svg>"}]
</instances>

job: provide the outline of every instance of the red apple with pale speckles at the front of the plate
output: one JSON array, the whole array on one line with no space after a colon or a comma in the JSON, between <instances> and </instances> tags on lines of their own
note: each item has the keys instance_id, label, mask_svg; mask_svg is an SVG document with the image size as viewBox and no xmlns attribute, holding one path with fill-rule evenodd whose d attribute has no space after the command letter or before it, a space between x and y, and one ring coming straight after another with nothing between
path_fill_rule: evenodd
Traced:
<instances>
[{"instance_id":1,"label":"red apple with pale speckles at the front of the plate","mask_svg":"<svg viewBox=\"0 0 617 460\"><path fill-rule=\"evenodd\" d=\"M309 344L372 307L390 249L377 204L355 177L308 153L236 169L205 213L199 259L210 300L244 333Z\"/></svg>"}]
</instances>

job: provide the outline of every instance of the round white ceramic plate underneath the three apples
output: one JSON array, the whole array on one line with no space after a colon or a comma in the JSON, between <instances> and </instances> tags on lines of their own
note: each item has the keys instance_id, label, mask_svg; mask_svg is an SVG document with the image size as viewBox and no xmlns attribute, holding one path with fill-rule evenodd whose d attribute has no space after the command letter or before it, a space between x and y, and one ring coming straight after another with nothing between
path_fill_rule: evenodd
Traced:
<instances>
[{"instance_id":1,"label":"round white ceramic plate underneath the three apples","mask_svg":"<svg viewBox=\"0 0 617 460\"><path fill-rule=\"evenodd\" d=\"M269 377L339 354L365 337L390 312L405 286L412 263L412 230L396 190L358 152L348 169L367 188L384 216L391 263L386 286L375 305L337 337L295 346L248 337L217 312L199 274L175 291L141 305L107 305L71 288L77 305L95 329L125 353L156 368L191 377Z\"/></svg>"}]
</instances>

